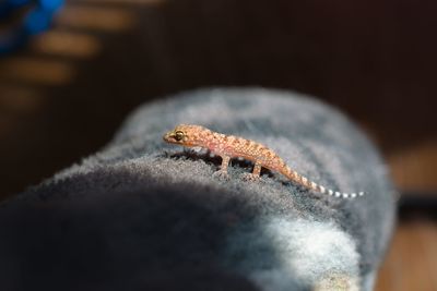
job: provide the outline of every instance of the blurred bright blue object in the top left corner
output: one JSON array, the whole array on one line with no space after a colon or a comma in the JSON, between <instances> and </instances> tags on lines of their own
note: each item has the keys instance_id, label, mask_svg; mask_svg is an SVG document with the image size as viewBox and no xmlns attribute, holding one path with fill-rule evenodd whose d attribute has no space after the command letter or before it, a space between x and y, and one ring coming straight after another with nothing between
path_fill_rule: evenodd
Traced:
<instances>
[{"instance_id":1,"label":"blurred bright blue object in the top left corner","mask_svg":"<svg viewBox=\"0 0 437 291\"><path fill-rule=\"evenodd\" d=\"M31 36L47 31L62 4L63 0L0 0L0 23L8 24L19 10L29 9L17 25L0 31L0 54L22 47Z\"/></svg>"}]
</instances>

